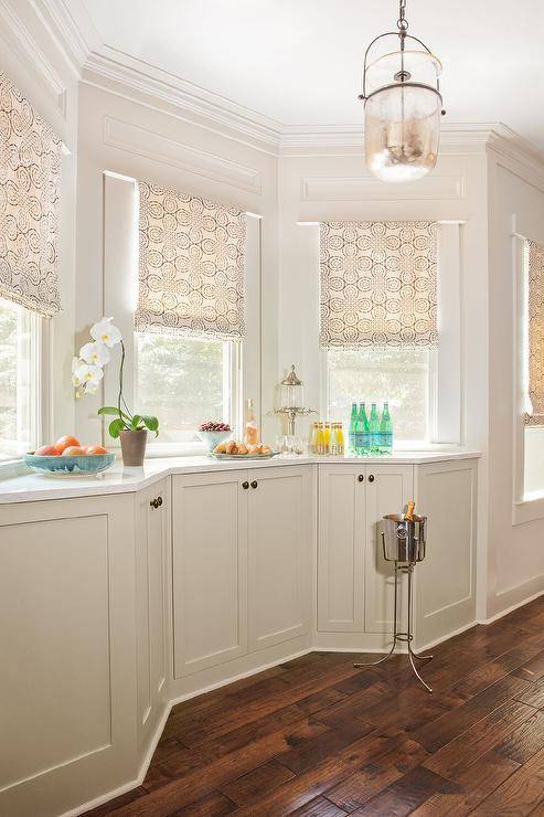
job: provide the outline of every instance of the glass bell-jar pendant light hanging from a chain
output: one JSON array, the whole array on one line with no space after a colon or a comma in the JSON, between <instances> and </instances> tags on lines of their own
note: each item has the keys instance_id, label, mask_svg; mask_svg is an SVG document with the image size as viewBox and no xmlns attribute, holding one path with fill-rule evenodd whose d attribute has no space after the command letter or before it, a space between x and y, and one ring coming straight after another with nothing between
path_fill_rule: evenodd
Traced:
<instances>
[{"instance_id":1,"label":"glass bell-jar pendant light hanging from a chain","mask_svg":"<svg viewBox=\"0 0 544 817\"><path fill-rule=\"evenodd\" d=\"M407 33L405 13L406 0L399 0L397 31L380 34L366 49L359 95L364 103L366 165L387 182L415 181L435 167L440 115L446 113L440 62Z\"/></svg>"}]
</instances>

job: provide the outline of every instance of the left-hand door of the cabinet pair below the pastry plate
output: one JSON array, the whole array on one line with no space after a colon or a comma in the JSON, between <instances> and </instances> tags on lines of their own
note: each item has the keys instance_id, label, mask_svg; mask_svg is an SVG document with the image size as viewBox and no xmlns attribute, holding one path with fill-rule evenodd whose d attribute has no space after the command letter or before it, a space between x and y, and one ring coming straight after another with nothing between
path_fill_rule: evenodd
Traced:
<instances>
[{"instance_id":1,"label":"left-hand door of the cabinet pair below the pastry plate","mask_svg":"<svg viewBox=\"0 0 544 817\"><path fill-rule=\"evenodd\" d=\"M174 677L247 652L247 471L174 476Z\"/></svg>"}]
</instances>

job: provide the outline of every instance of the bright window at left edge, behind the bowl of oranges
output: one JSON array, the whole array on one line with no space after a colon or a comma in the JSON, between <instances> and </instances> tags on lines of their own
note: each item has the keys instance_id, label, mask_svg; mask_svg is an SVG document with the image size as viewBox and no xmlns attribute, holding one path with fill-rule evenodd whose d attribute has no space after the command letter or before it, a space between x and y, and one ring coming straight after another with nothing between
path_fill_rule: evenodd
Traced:
<instances>
[{"instance_id":1,"label":"bright window at left edge, behind the bowl of oranges","mask_svg":"<svg viewBox=\"0 0 544 817\"><path fill-rule=\"evenodd\" d=\"M40 318L0 298L0 459L38 444Z\"/></svg>"}]
</instances>

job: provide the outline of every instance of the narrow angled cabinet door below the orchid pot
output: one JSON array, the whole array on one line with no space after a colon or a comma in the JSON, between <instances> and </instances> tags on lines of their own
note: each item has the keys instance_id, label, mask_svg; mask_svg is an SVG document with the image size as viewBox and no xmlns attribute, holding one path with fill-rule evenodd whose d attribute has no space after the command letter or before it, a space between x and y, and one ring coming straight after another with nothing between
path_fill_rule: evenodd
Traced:
<instances>
[{"instance_id":1,"label":"narrow angled cabinet door below the orchid pot","mask_svg":"<svg viewBox=\"0 0 544 817\"><path fill-rule=\"evenodd\" d=\"M160 720L167 689L167 550L170 480L136 495L138 639L138 740L146 743Z\"/></svg>"}]
</instances>

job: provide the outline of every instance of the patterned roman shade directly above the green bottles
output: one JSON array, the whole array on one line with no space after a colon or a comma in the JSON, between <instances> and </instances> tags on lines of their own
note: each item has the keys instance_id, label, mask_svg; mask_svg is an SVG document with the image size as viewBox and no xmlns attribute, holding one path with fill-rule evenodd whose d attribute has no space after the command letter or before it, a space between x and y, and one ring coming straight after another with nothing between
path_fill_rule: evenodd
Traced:
<instances>
[{"instance_id":1,"label":"patterned roman shade directly above the green bottles","mask_svg":"<svg viewBox=\"0 0 544 817\"><path fill-rule=\"evenodd\" d=\"M320 225L320 346L431 347L436 327L436 223Z\"/></svg>"}]
</instances>

